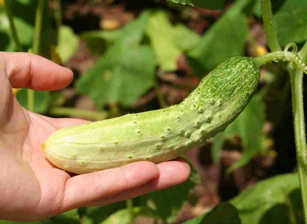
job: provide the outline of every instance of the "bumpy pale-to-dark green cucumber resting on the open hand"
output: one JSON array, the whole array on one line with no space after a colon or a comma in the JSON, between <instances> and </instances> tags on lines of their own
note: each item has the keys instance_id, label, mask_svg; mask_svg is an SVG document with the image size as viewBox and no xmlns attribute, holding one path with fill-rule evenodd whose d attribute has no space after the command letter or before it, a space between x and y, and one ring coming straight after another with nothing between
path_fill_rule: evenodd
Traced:
<instances>
[{"instance_id":1,"label":"bumpy pale-to-dark green cucumber resting on the open hand","mask_svg":"<svg viewBox=\"0 0 307 224\"><path fill-rule=\"evenodd\" d=\"M65 127L42 147L52 164L77 174L135 161L168 161L223 131L246 107L259 78L252 59L232 57L180 104Z\"/></svg>"}]
</instances>

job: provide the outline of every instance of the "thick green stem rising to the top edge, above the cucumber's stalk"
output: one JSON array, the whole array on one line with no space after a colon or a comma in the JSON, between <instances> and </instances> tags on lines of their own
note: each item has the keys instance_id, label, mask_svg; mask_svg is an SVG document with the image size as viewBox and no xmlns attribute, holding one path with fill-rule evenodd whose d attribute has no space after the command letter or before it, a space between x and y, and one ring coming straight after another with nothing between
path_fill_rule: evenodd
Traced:
<instances>
[{"instance_id":1,"label":"thick green stem rising to the top edge, above the cucumber's stalk","mask_svg":"<svg viewBox=\"0 0 307 224\"><path fill-rule=\"evenodd\" d=\"M263 25L266 32L266 40L271 51L281 51L277 35L274 32L271 0L261 0Z\"/></svg>"}]
</instances>

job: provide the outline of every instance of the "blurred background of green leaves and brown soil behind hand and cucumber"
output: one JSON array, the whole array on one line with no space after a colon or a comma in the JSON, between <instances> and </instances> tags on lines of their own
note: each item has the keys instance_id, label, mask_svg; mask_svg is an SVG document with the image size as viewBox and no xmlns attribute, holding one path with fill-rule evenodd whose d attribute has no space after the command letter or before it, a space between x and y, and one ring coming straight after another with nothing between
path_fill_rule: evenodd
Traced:
<instances>
[{"instance_id":1,"label":"blurred background of green leaves and brown soil behind hand and cucumber","mask_svg":"<svg viewBox=\"0 0 307 224\"><path fill-rule=\"evenodd\" d=\"M37 1L10 2L22 48L32 52ZM40 55L75 75L63 90L35 91L35 112L46 116L95 121L165 108L180 103L225 59L268 51L260 0L44 4ZM300 48L307 39L307 1L272 4L280 43L295 42ZM0 40L0 51L17 51L3 0ZM16 97L27 108L26 89ZM242 114L223 133L185 155L193 167L189 180L133 200L136 221L303 223L293 173L290 97L287 73L274 63L262 67L258 92ZM80 222L128 223L129 211L120 202L34 223Z\"/></svg>"}]
</instances>

